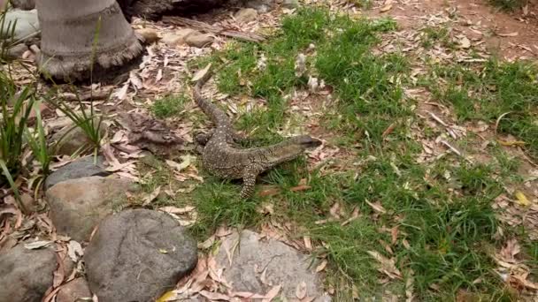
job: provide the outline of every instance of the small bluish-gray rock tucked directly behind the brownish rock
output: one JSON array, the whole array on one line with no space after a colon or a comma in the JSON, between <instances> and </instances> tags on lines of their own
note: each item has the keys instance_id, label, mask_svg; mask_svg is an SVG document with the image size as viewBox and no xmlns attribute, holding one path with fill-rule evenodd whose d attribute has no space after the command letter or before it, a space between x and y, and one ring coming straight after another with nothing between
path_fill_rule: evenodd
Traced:
<instances>
[{"instance_id":1,"label":"small bluish-gray rock tucked directly behind the brownish rock","mask_svg":"<svg viewBox=\"0 0 538 302\"><path fill-rule=\"evenodd\" d=\"M94 160L96 160L96 163L94 163ZM97 158L93 155L85 156L52 172L45 180L45 190L69 179L92 176L105 177L110 174L105 170L103 156L99 155Z\"/></svg>"}]
</instances>

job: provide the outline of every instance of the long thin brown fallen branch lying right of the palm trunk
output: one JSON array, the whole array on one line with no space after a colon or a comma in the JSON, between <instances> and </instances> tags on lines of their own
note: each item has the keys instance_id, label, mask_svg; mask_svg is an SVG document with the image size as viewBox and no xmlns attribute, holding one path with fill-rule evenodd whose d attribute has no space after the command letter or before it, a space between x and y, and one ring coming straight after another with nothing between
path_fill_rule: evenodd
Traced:
<instances>
[{"instance_id":1,"label":"long thin brown fallen branch lying right of the palm trunk","mask_svg":"<svg viewBox=\"0 0 538 302\"><path fill-rule=\"evenodd\" d=\"M188 26L188 27L195 28L197 30L211 33L211 34L225 35L227 37L231 37L231 38L242 40L242 41L249 41L249 42L265 41L265 37L261 34L243 33L236 30L229 30L220 26L212 26L202 21L196 21L193 19L187 19L187 18L176 17L176 16L165 16L163 17L163 22L170 23L175 26Z\"/></svg>"}]
</instances>

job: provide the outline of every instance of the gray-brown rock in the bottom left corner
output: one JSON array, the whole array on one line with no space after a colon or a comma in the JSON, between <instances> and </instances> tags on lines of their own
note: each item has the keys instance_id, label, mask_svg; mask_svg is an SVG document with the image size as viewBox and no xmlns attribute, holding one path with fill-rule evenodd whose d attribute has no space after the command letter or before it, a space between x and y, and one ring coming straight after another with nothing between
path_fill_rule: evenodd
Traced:
<instances>
[{"instance_id":1,"label":"gray-brown rock in the bottom left corner","mask_svg":"<svg viewBox=\"0 0 538 302\"><path fill-rule=\"evenodd\" d=\"M56 253L50 248L28 250L19 244L0 253L0 301L41 301L56 267Z\"/></svg>"}]
</instances>

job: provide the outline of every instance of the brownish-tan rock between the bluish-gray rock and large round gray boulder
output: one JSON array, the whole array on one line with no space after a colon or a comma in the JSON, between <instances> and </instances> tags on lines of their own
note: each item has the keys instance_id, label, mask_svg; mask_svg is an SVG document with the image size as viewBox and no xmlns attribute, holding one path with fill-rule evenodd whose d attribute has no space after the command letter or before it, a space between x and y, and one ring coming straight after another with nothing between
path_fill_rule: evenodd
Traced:
<instances>
[{"instance_id":1,"label":"brownish-tan rock between the bluish-gray rock and large round gray boulder","mask_svg":"<svg viewBox=\"0 0 538 302\"><path fill-rule=\"evenodd\" d=\"M126 202L131 181L116 177L81 177L52 186L46 193L50 219L59 234L88 240L94 227Z\"/></svg>"}]
</instances>

